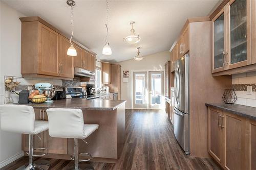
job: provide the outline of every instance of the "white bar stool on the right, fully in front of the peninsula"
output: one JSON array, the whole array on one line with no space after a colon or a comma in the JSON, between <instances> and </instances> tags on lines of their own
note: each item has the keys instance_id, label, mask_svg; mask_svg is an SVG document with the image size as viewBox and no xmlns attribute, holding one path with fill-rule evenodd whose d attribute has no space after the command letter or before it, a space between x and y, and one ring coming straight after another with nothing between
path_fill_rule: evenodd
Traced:
<instances>
[{"instance_id":1,"label":"white bar stool on the right, fully in front of the peninsula","mask_svg":"<svg viewBox=\"0 0 256 170\"><path fill-rule=\"evenodd\" d=\"M79 162L86 162L92 159L92 155L86 152L80 155L88 155L90 159L79 160L78 139L85 139L99 128L97 124L84 124L81 109L47 109L49 121L49 135L59 138L74 138L74 155L70 158L75 161L71 169L80 170ZM83 140L84 141L84 140ZM86 142L86 141L84 141ZM86 142L87 143L87 142ZM93 167L86 168L93 169Z\"/></svg>"}]
</instances>

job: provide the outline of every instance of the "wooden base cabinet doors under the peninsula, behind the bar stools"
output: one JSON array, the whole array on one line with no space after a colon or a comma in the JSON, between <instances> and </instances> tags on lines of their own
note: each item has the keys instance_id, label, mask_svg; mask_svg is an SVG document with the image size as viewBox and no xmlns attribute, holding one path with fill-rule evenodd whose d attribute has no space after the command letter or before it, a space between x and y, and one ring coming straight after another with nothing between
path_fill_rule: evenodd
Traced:
<instances>
[{"instance_id":1,"label":"wooden base cabinet doors under the peninsula, behind the bar stools","mask_svg":"<svg viewBox=\"0 0 256 170\"><path fill-rule=\"evenodd\" d=\"M46 110L34 109L35 120L48 121ZM48 130L39 133L38 136L34 135L34 148L47 148L50 154L67 154L67 138L50 137ZM22 148L23 151L29 150L29 135L22 134Z\"/></svg>"}]
</instances>

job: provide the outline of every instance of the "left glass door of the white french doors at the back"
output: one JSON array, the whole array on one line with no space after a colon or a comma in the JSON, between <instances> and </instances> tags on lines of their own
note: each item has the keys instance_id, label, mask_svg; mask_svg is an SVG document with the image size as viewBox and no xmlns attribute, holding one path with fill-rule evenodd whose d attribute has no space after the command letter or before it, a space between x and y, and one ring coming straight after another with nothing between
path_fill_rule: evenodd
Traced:
<instances>
[{"instance_id":1,"label":"left glass door of the white french doors at the back","mask_svg":"<svg viewBox=\"0 0 256 170\"><path fill-rule=\"evenodd\" d=\"M146 72L134 72L134 108L146 108Z\"/></svg>"}]
</instances>

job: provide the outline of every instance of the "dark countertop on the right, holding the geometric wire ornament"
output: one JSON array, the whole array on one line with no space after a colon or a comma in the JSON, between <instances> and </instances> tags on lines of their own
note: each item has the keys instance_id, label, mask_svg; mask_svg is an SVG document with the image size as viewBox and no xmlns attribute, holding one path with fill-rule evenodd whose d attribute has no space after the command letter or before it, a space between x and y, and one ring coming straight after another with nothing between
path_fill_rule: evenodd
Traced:
<instances>
[{"instance_id":1,"label":"dark countertop on the right, holding the geometric wire ornament","mask_svg":"<svg viewBox=\"0 0 256 170\"><path fill-rule=\"evenodd\" d=\"M256 108L255 107L238 105L238 104L224 104L224 103L219 103L219 104L206 103L205 105L256 120Z\"/></svg>"}]
</instances>

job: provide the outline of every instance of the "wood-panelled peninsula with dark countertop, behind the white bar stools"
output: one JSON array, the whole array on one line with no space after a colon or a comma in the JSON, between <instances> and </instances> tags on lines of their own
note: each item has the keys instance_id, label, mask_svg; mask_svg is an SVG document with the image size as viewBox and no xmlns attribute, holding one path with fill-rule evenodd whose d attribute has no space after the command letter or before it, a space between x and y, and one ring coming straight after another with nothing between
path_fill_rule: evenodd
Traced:
<instances>
[{"instance_id":1,"label":"wood-panelled peninsula with dark countertop, behind the white bar stools","mask_svg":"<svg viewBox=\"0 0 256 170\"><path fill-rule=\"evenodd\" d=\"M36 120L48 120L48 108L76 108L83 112L84 124L98 124L96 130L85 140L79 139L79 152L92 154L92 162L117 163L125 142L125 102L112 100L66 99L54 103L25 104L34 107ZM24 104L23 104L24 105ZM59 115L61 121L61 114ZM44 158L66 159L74 153L74 139L53 138L48 131L34 136L34 148L47 148ZM28 135L22 135L22 149L28 151ZM26 155L26 154L25 154ZM84 159L81 156L79 159Z\"/></svg>"}]
</instances>

